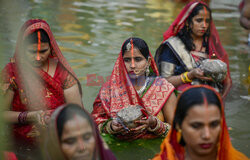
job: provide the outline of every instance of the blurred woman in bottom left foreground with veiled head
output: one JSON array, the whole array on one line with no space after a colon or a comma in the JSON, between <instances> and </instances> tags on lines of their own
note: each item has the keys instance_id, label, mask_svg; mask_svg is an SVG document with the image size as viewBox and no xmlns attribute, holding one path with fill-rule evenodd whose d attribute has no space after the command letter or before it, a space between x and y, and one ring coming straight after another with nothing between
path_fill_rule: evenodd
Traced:
<instances>
[{"instance_id":1,"label":"blurred woman in bottom left foreground with veiled head","mask_svg":"<svg viewBox=\"0 0 250 160\"><path fill-rule=\"evenodd\" d=\"M92 117L76 104L56 109L45 139L46 160L116 160Z\"/></svg>"}]
</instances>

